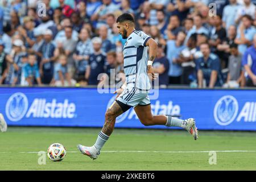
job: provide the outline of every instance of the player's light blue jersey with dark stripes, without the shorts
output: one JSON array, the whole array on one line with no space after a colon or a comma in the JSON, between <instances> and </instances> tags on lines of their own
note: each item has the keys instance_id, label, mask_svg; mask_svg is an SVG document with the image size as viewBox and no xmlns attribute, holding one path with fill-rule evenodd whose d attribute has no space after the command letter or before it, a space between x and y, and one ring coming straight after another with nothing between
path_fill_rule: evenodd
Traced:
<instances>
[{"instance_id":1,"label":"player's light blue jersey with dark stripes, without the shorts","mask_svg":"<svg viewBox=\"0 0 256 182\"><path fill-rule=\"evenodd\" d=\"M150 82L147 76L147 40L150 36L142 31L133 31L123 47L123 68L127 86L139 90L149 90Z\"/></svg>"}]
</instances>

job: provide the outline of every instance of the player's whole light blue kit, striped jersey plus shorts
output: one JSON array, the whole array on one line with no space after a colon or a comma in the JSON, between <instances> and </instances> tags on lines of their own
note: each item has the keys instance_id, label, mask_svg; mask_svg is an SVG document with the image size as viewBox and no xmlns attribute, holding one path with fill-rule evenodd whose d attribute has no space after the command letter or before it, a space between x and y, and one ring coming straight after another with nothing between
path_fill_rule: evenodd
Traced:
<instances>
[{"instance_id":1,"label":"player's whole light blue kit, striped jersey plus shorts","mask_svg":"<svg viewBox=\"0 0 256 182\"><path fill-rule=\"evenodd\" d=\"M147 76L147 47L150 36L142 31L133 31L123 47L123 68L127 87L118 96L117 102L122 102L126 108L138 105L149 105L148 93L150 80ZM125 111L126 109L124 109Z\"/></svg>"}]
</instances>

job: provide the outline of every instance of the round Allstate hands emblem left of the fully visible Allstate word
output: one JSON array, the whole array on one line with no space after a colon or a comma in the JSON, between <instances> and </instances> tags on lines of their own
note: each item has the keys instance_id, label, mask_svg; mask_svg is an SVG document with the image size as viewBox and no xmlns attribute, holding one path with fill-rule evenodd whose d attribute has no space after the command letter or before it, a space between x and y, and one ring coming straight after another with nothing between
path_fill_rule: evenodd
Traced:
<instances>
[{"instance_id":1,"label":"round Allstate hands emblem left of the fully visible Allstate word","mask_svg":"<svg viewBox=\"0 0 256 182\"><path fill-rule=\"evenodd\" d=\"M15 93L9 98L6 103L6 116L10 121L19 121L26 114L27 108L27 97L23 93Z\"/></svg>"}]
</instances>

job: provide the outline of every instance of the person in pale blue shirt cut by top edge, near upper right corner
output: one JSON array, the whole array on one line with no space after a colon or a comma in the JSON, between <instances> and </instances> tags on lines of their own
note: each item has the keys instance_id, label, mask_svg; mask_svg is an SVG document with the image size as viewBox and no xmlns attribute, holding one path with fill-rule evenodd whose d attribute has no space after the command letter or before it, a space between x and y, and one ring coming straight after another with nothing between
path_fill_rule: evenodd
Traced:
<instances>
[{"instance_id":1,"label":"person in pale blue shirt cut by top edge, near upper right corner","mask_svg":"<svg viewBox=\"0 0 256 182\"><path fill-rule=\"evenodd\" d=\"M237 0L229 0L229 5L226 5L223 9L222 13L222 22L223 26L228 31L230 26L234 26L236 24L236 14L240 5L238 5Z\"/></svg>"}]
</instances>

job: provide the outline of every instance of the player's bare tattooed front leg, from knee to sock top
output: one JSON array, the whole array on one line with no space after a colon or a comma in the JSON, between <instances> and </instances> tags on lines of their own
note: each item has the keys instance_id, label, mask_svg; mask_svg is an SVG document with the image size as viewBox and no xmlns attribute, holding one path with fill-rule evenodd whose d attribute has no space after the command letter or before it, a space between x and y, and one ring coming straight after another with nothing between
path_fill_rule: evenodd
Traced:
<instances>
[{"instance_id":1,"label":"player's bare tattooed front leg, from knee to sock top","mask_svg":"<svg viewBox=\"0 0 256 182\"><path fill-rule=\"evenodd\" d=\"M101 131L106 135L110 136L114 130L115 118L117 118L122 113L123 110L121 109L121 107L117 104L117 102L114 102L106 111L105 123Z\"/></svg>"}]
</instances>

